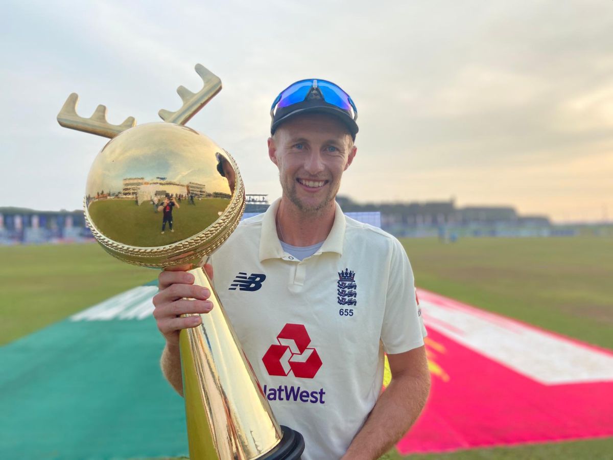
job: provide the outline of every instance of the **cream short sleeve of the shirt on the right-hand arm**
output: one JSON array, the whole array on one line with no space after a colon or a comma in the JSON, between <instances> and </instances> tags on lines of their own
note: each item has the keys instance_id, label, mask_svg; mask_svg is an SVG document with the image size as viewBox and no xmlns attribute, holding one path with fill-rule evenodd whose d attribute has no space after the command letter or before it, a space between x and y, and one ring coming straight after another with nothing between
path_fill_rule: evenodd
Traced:
<instances>
[{"instance_id":1,"label":"cream short sleeve of the shirt on the right-hand arm","mask_svg":"<svg viewBox=\"0 0 613 460\"><path fill-rule=\"evenodd\" d=\"M411 264L395 238L389 260L381 342L386 353L404 353L424 345L427 332L417 304Z\"/></svg>"}]
</instances>

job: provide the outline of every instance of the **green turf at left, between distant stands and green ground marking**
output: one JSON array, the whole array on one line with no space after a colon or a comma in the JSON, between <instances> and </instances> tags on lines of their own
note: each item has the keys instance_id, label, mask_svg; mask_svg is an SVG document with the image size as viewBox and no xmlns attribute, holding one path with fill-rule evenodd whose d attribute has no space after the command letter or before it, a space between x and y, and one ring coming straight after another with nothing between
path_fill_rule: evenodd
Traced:
<instances>
[{"instance_id":1,"label":"green turf at left, between distant stands and green ground marking","mask_svg":"<svg viewBox=\"0 0 613 460\"><path fill-rule=\"evenodd\" d=\"M0 247L0 345L158 276L97 243Z\"/></svg>"}]
</instances>

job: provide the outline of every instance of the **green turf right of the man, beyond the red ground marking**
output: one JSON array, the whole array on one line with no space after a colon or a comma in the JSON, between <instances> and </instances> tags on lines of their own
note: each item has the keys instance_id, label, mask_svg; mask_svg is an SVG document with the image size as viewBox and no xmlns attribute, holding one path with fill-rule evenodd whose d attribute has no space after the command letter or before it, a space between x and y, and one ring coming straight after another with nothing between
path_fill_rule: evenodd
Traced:
<instances>
[{"instance_id":1,"label":"green turf right of the man, beyond the red ground marking","mask_svg":"<svg viewBox=\"0 0 613 460\"><path fill-rule=\"evenodd\" d=\"M417 286L613 349L613 239L403 239Z\"/></svg>"}]
</instances>

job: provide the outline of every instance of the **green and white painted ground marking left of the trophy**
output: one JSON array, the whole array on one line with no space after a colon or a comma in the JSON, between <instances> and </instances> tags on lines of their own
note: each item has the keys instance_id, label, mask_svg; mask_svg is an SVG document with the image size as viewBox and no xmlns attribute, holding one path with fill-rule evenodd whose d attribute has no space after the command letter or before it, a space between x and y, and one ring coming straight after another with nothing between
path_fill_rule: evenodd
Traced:
<instances>
[{"instance_id":1,"label":"green and white painted ground marking left of the trophy","mask_svg":"<svg viewBox=\"0 0 613 460\"><path fill-rule=\"evenodd\" d=\"M183 399L159 370L154 286L0 348L0 458L188 454Z\"/></svg>"}]
</instances>

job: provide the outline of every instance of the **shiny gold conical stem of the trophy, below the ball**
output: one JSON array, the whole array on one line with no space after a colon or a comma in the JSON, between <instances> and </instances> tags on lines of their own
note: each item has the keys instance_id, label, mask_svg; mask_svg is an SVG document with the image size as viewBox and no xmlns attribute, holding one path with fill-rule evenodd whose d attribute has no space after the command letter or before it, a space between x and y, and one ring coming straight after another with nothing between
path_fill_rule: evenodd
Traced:
<instances>
[{"instance_id":1,"label":"shiny gold conical stem of the trophy, below the ball","mask_svg":"<svg viewBox=\"0 0 613 460\"><path fill-rule=\"evenodd\" d=\"M211 280L189 270L194 284L210 289L210 313L180 333L189 456L251 460L274 451L283 437L251 364L240 346Z\"/></svg>"}]
</instances>

